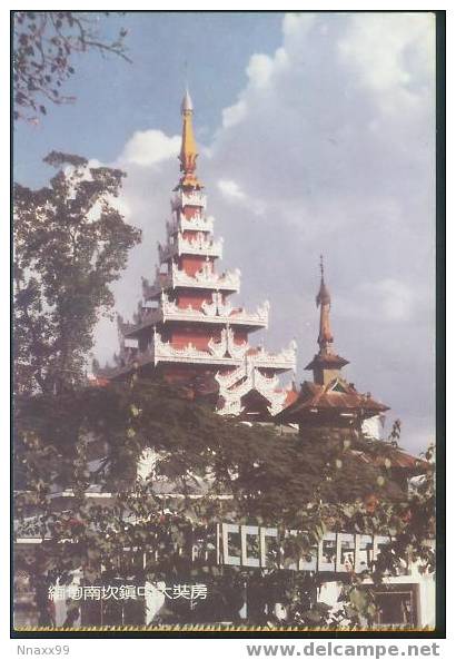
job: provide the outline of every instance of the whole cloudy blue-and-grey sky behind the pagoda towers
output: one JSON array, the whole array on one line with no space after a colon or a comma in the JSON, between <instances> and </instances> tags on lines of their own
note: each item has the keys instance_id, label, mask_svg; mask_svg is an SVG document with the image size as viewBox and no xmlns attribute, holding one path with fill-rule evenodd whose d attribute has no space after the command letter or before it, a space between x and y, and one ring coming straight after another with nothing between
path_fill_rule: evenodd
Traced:
<instances>
[{"instance_id":1,"label":"whole cloudy blue-and-grey sky behind the pagoda towers","mask_svg":"<svg viewBox=\"0 0 456 660\"><path fill-rule=\"evenodd\" d=\"M220 268L239 267L237 301L271 304L254 345L296 338L297 381L317 349L319 255L345 376L391 407L415 452L435 433L435 58L429 13L129 12L132 63L76 60L49 109L14 136L14 173L41 186L52 149L127 173L120 206L143 240L116 284L130 317L153 279L179 178L180 100L188 81L199 176ZM116 326L96 332L103 363Z\"/></svg>"}]
</instances>

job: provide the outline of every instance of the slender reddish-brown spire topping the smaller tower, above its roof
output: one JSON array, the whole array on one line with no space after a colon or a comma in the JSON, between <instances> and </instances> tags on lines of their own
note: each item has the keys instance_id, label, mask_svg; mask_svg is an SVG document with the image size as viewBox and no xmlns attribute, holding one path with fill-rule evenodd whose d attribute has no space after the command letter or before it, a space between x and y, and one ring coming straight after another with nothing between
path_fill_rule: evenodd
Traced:
<instances>
[{"instance_id":1,"label":"slender reddish-brown spire topping the smaller tower, above its roof","mask_svg":"<svg viewBox=\"0 0 456 660\"><path fill-rule=\"evenodd\" d=\"M320 288L316 297L317 307L320 308L320 324L318 332L319 351L314 359L306 366L306 370L314 372L314 382L319 385L327 385L338 376L340 368L348 364L348 361L333 349L334 336L330 328L329 311L331 297L325 283L325 265L320 255Z\"/></svg>"}]
</instances>

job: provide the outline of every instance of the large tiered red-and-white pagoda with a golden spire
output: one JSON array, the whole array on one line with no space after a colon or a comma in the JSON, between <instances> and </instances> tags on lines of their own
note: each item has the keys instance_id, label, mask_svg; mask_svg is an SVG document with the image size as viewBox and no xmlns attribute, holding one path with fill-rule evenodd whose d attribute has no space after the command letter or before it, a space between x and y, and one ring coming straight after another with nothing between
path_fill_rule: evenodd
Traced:
<instances>
[{"instance_id":1,"label":"large tiered red-and-white pagoda with a golden spire","mask_svg":"<svg viewBox=\"0 0 456 660\"><path fill-rule=\"evenodd\" d=\"M222 238L214 237L205 187L197 174L194 106L188 90L181 105L181 177L174 189L167 238L158 245L159 265L142 282L142 301L132 323L118 318L120 353L99 376L121 378L139 368L210 395L221 414L270 418L289 403L291 388L278 375L296 368L294 341L279 353L252 346L249 335L268 327L269 303L254 312L231 303L240 272L219 272Z\"/></svg>"}]
</instances>

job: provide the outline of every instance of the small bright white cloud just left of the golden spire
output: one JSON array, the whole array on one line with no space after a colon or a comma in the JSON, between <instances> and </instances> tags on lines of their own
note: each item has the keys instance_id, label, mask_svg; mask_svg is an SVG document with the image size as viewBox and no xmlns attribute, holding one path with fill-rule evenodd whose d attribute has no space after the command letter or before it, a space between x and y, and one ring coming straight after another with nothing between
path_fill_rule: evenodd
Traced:
<instances>
[{"instance_id":1,"label":"small bright white cloud just left of the golden spire","mask_svg":"<svg viewBox=\"0 0 456 660\"><path fill-rule=\"evenodd\" d=\"M157 165L179 154L180 137L168 137L161 130L138 130L126 144L119 158L126 165Z\"/></svg>"}]
</instances>

